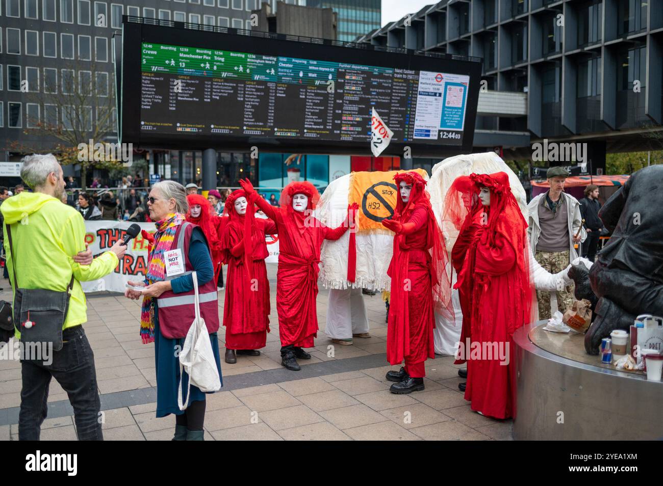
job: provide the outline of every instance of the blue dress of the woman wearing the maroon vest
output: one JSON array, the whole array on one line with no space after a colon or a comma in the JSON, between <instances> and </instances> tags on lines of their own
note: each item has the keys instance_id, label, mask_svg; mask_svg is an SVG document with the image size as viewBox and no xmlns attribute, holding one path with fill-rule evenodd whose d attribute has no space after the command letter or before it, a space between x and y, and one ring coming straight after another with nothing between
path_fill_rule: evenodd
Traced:
<instances>
[{"instance_id":1,"label":"blue dress of the woman wearing the maroon vest","mask_svg":"<svg viewBox=\"0 0 663 486\"><path fill-rule=\"evenodd\" d=\"M211 264L210 250L200 228L194 228L189 244L189 261L191 262L196 275L198 276L198 285L210 281L214 277L214 269ZM174 293L191 291L194 288L194 279L191 274L182 275L170 281ZM219 370L221 386L223 378L221 377L221 358L219 355L219 340L217 333L210 334L211 349L214 353L216 367ZM177 387L180 385L180 359L178 351L184 346L184 338L168 339L161 334L159 330L158 301L154 306L154 361L156 367L156 416L162 417L174 413L182 414L185 411L180 410L177 405ZM188 385L188 375L184 372L182 379L182 397L186 399L186 387ZM213 393L213 392L210 392ZM205 399L205 393L194 385L191 385L188 403L202 401Z\"/></svg>"}]
</instances>

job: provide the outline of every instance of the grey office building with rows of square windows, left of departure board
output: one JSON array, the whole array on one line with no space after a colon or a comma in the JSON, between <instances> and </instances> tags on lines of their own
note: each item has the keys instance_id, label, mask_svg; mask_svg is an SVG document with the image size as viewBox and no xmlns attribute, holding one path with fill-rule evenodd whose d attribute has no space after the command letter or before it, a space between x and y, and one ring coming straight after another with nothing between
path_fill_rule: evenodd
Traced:
<instances>
[{"instance_id":1,"label":"grey office building with rows of square windows, left of departure board","mask_svg":"<svg viewBox=\"0 0 663 486\"><path fill-rule=\"evenodd\" d=\"M53 150L57 140L47 140L38 130L30 130L38 124L72 130L78 122L83 125L82 131L86 131L97 122L108 123L106 141L115 141L112 46L113 34L122 30L123 15L250 29L251 11L259 8L260 3L259 0L1 0L3 152L0 161L20 160L21 149ZM175 152L176 158L178 155ZM196 154L186 153L182 158L188 162L184 164L187 175L194 179ZM165 164L168 157L156 159ZM239 162L235 165L239 166ZM71 170L66 168L68 173Z\"/></svg>"}]
</instances>

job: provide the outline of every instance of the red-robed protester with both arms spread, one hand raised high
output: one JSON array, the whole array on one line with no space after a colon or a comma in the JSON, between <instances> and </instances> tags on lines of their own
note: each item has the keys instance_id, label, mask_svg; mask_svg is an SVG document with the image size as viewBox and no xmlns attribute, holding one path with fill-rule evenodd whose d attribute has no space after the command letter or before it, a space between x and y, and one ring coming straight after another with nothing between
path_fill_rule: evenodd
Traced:
<instances>
[{"instance_id":1,"label":"red-robed protester with both arms spread, one hand raised high","mask_svg":"<svg viewBox=\"0 0 663 486\"><path fill-rule=\"evenodd\" d=\"M296 358L311 355L302 348L312 348L318 336L318 272L320 247L324 240L337 240L348 228L346 219L337 228L328 228L311 215L320 199L318 189L308 181L291 182L281 193L280 207L258 197L249 179L239 181L249 195L249 209L255 204L276 222L278 230L278 271L276 273L276 310L281 340L281 364L297 371ZM348 213L357 205L348 206Z\"/></svg>"}]
</instances>

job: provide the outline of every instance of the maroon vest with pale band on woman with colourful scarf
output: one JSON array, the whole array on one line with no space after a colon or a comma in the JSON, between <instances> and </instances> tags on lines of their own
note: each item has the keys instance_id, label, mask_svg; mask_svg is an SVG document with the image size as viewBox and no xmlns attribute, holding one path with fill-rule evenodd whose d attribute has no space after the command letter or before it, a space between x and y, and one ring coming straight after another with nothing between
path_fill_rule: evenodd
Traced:
<instances>
[{"instance_id":1,"label":"maroon vest with pale band on woman with colourful scarf","mask_svg":"<svg viewBox=\"0 0 663 486\"><path fill-rule=\"evenodd\" d=\"M166 276L166 280L182 277L182 275L192 273L194 270L189 261L189 242L191 241L191 234L195 227L196 224L192 222L183 222L177 229L170 250L175 250L176 248L182 250L185 271L178 275L172 275L172 277ZM194 295L194 289L183 293L174 293L172 290L168 290L157 297L159 327L161 334L166 338L186 338L186 333L189 331L196 317ZM217 332L219 330L219 307L217 303L216 282L213 278L203 285L200 285L200 282L198 283L198 297L200 299L200 315L205 320L208 332L210 334Z\"/></svg>"}]
</instances>

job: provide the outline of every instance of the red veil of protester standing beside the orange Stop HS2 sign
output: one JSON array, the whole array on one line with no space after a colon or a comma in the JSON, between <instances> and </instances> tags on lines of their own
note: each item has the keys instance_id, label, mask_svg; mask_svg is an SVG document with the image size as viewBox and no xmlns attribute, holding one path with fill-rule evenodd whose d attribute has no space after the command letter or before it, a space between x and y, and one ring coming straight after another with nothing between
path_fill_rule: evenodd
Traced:
<instances>
[{"instance_id":1,"label":"red veil of protester standing beside the orange Stop HS2 sign","mask_svg":"<svg viewBox=\"0 0 663 486\"><path fill-rule=\"evenodd\" d=\"M433 300L435 309L438 313L449 313L453 316L453 304L451 299L451 284L446 267L449 261L446 246L444 244L444 235L438 225L433 208L430 205L430 196L426 191L426 181L418 172L403 172L394 175L396 187L400 187L400 182L405 181L406 184L412 185L408 203L403 203L400 197L400 190L398 190L398 197L396 197L396 209L394 210L394 220L402 223L407 222L417 207L425 207L428 211L428 236L426 238L426 248L428 248L431 256L430 261L430 277L433 289ZM404 234L396 234L394 237L394 255L392 261L398 262L400 256L400 244L397 239L404 239ZM396 268L396 273L407 271L407 269ZM392 279L396 277L396 281L402 281L402 275L392 275Z\"/></svg>"}]
</instances>

